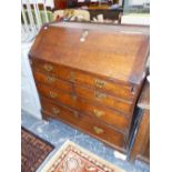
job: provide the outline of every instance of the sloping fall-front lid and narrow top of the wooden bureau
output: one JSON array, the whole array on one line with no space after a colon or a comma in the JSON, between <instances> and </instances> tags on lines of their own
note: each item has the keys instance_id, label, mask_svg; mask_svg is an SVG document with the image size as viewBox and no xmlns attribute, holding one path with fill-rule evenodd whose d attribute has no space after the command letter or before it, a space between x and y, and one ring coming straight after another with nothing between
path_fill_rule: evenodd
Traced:
<instances>
[{"instance_id":1,"label":"sloping fall-front lid and narrow top of the wooden bureau","mask_svg":"<svg viewBox=\"0 0 172 172\"><path fill-rule=\"evenodd\" d=\"M130 27L59 22L41 29L29 54L138 84L145 73L149 36Z\"/></svg>"}]
</instances>

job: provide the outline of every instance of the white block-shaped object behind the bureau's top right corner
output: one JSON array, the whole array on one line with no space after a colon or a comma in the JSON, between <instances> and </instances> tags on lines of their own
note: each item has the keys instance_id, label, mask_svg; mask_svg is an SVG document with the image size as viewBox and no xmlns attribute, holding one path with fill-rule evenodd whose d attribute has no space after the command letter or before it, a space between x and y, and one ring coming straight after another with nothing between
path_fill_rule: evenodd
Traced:
<instances>
[{"instance_id":1,"label":"white block-shaped object behind the bureau's top right corner","mask_svg":"<svg viewBox=\"0 0 172 172\"><path fill-rule=\"evenodd\" d=\"M121 23L122 24L149 26L150 24L150 14L142 14L142 13L123 14L121 18Z\"/></svg>"}]
</instances>

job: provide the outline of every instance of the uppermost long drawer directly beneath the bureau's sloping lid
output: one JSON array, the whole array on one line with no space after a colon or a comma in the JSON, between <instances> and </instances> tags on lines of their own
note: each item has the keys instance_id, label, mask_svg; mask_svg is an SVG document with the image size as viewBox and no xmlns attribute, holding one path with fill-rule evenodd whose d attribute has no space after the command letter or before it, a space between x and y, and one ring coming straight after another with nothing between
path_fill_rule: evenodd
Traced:
<instances>
[{"instance_id":1,"label":"uppermost long drawer directly beneath the bureau's sloping lid","mask_svg":"<svg viewBox=\"0 0 172 172\"><path fill-rule=\"evenodd\" d=\"M125 100L133 100L138 93L138 88L133 85L122 85L120 83L113 82L112 80L107 80L103 77L85 73L68 67L52 64L50 62L44 62L36 59L32 61L32 65L37 70L55 74L62 80L68 80L79 84L85 84L101 91L107 91Z\"/></svg>"}]
</instances>

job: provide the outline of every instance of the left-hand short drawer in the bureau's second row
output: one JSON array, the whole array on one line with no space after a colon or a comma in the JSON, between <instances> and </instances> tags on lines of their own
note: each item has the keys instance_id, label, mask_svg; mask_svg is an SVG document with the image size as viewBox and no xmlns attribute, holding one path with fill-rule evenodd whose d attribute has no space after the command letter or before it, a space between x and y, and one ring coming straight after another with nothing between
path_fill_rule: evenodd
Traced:
<instances>
[{"instance_id":1,"label":"left-hand short drawer in the bureau's second row","mask_svg":"<svg viewBox=\"0 0 172 172\"><path fill-rule=\"evenodd\" d=\"M72 92L72 84L70 82L60 80L52 74L44 74L33 70L33 75L36 82L49 84L50 87L57 88L59 90Z\"/></svg>"}]
</instances>

